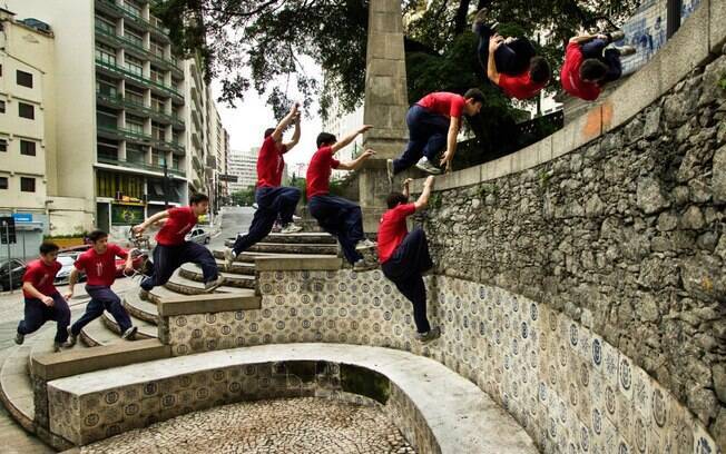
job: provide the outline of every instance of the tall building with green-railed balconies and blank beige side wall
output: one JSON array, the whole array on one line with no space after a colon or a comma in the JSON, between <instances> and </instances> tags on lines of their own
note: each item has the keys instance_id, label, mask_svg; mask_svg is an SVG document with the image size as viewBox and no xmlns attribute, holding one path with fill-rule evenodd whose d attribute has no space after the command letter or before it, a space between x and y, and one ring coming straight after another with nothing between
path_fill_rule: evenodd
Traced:
<instances>
[{"instance_id":1,"label":"tall building with green-railed balconies and blank beige side wall","mask_svg":"<svg viewBox=\"0 0 726 454\"><path fill-rule=\"evenodd\" d=\"M192 191L214 198L209 90L198 58L173 55L149 0L7 1L56 38L51 234L120 233Z\"/></svg>"}]
</instances>

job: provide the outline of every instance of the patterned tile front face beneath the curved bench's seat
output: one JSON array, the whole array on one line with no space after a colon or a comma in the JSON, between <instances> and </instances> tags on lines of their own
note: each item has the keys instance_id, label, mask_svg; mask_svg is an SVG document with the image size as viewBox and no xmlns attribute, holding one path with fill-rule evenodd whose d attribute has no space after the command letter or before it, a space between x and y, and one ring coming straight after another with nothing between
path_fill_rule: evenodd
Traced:
<instances>
[{"instance_id":1,"label":"patterned tile front face beneath the curved bench's seat","mask_svg":"<svg viewBox=\"0 0 726 454\"><path fill-rule=\"evenodd\" d=\"M173 378L73 395L48 386L50 430L86 445L158 421L241 401L316 396L381 406L418 452L438 453L431 431L395 385L385 405L345 391L342 367L330 362L276 362L200 371Z\"/></svg>"}]
</instances>

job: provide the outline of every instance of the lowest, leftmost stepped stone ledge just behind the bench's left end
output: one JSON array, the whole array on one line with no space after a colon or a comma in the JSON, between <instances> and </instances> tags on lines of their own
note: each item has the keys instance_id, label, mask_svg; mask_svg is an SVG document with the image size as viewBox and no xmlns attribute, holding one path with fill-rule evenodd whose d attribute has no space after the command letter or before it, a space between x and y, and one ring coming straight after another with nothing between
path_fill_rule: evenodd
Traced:
<instances>
[{"instance_id":1,"label":"lowest, leftmost stepped stone ledge just behind the bench's left end","mask_svg":"<svg viewBox=\"0 0 726 454\"><path fill-rule=\"evenodd\" d=\"M77 348L31 357L31 374L51 381L88 372L126 366L171 356L168 345L157 339L118 342L94 348Z\"/></svg>"}]
</instances>

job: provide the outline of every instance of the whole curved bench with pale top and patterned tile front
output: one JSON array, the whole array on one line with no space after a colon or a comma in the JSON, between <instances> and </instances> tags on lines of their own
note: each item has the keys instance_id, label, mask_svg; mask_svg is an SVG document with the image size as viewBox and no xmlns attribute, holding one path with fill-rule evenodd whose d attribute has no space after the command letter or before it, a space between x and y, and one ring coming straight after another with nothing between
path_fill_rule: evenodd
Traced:
<instances>
[{"instance_id":1,"label":"whole curved bench with pale top and patterned tile front","mask_svg":"<svg viewBox=\"0 0 726 454\"><path fill-rule=\"evenodd\" d=\"M365 386L370 381L375 383ZM527 433L477 385L431 358L390 348L264 345L48 384L52 432L81 445L213 405L321 392L380 402L421 453L537 453Z\"/></svg>"}]
</instances>

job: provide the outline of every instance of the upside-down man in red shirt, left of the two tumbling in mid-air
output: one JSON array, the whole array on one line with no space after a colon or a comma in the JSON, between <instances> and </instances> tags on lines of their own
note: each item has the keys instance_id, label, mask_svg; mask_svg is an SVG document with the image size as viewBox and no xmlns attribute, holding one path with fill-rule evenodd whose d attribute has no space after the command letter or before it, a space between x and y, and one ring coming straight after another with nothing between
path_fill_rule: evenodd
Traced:
<instances>
[{"instance_id":1,"label":"upside-down man in red shirt, left of the two tumbling in mid-air","mask_svg":"<svg viewBox=\"0 0 726 454\"><path fill-rule=\"evenodd\" d=\"M487 23L487 10L480 10L473 30L479 36L479 62L487 77L510 98L534 97L550 79L549 63L527 38L504 39L494 33L494 28L496 23Z\"/></svg>"}]
</instances>

